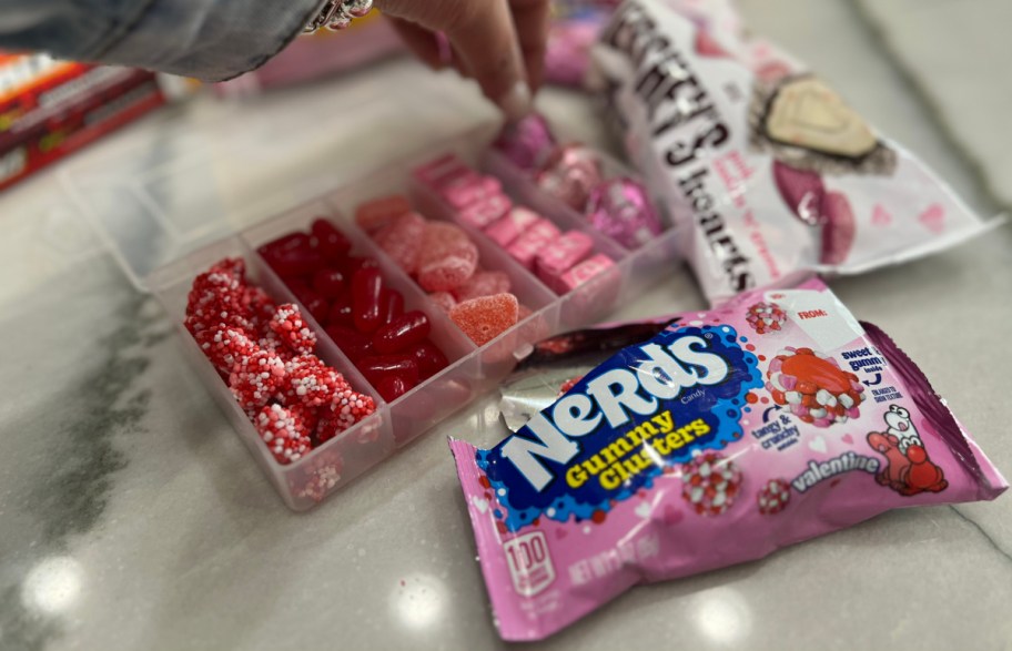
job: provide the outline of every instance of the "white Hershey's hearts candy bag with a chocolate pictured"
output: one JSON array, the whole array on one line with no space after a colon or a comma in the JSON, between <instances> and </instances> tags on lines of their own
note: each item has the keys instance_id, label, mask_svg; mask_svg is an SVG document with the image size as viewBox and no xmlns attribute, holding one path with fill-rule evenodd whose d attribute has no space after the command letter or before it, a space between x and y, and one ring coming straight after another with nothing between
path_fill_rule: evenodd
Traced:
<instances>
[{"instance_id":1,"label":"white Hershey's hearts candy bag with a chocolate pictured","mask_svg":"<svg viewBox=\"0 0 1012 651\"><path fill-rule=\"evenodd\" d=\"M630 157L671 218L691 225L687 257L714 304L798 272L901 263L988 228L826 82L747 35L726 0L629 0L594 58Z\"/></svg>"}]
</instances>

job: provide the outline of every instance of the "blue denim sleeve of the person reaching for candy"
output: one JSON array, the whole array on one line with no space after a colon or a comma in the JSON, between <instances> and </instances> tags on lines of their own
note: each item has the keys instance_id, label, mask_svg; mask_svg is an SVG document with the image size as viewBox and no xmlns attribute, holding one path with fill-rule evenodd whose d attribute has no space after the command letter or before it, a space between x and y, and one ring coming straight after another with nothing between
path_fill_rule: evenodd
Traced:
<instances>
[{"instance_id":1,"label":"blue denim sleeve of the person reaching for candy","mask_svg":"<svg viewBox=\"0 0 1012 651\"><path fill-rule=\"evenodd\" d=\"M322 0L0 0L0 49L206 81L263 64Z\"/></svg>"}]
</instances>

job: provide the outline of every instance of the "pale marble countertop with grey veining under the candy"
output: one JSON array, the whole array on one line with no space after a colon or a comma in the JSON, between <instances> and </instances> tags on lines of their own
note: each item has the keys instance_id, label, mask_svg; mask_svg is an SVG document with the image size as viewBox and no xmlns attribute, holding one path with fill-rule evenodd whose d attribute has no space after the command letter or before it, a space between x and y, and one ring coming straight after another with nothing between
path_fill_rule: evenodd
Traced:
<instances>
[{"instance_id":1,"label":"pale marble countertop with grey veining under the candy","mask_svg":"<svg viewBox=\"0 0 1012 651\"><path fill-rule=\"evenodd\" d=\"M994 210L849 3L742 4L971 204ZM424 74L403 62L380 70L392 69ZM600 138L585 100L542 101L574 132ZM472 98L467 119L487 115ZM505 647L445 444L451 433L478 444L502 436L493 399L318 509L292 513L176 354L169 317L126 282L51 174L0 199L0 648ZM1012 346L1002 338L1012 230L831 284L907 349L1012 474ZM676 272L624 314L701 305ZM1004 496L892 512L762 561L637 588L532 647L1012 649L1010 602Z\"/></svg>"}]
</instances>

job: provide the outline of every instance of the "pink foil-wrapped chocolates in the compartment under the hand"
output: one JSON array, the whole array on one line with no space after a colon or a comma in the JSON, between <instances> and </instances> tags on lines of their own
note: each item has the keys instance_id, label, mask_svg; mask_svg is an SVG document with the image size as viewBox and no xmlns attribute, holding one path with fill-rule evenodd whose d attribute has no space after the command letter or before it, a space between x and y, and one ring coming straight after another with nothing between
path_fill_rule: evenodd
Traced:
<instances>
[{"instance_id":1,"label":"pink foil-wrapped chocolates in the compartment under the hand","mask_svg":"<svg viewBox=\"0 0 1012 651\"><path fill-rule=\"evenodd\" d=\"M664 230L642 183L611 169L614 164L586 145L557 143L540 115L507 126L495 148L542 190L626 248L642 246Z\"/></svg>"}]
</instances>

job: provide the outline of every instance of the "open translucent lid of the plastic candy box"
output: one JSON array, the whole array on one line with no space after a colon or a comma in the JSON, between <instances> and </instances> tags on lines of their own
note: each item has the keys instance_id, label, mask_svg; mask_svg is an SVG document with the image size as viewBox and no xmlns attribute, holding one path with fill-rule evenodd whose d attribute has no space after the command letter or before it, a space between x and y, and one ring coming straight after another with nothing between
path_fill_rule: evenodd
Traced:
<instances>
[{"instance_id":1,"label":"open translucent lid of the plastic candy box","mask_svg":"<svg viewBox=\"0 0 1012 651\"><path fill-rule=\"evenodd\" d=\"M130 281L496 119L476 89L406 60L242 103L209 94L81 152L61 172Z\"/></svg>"}]
</instances>

